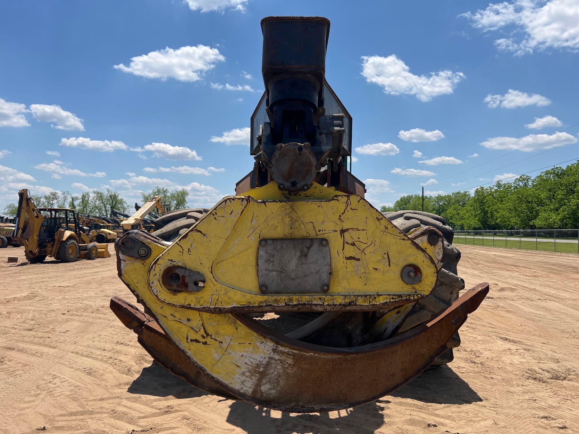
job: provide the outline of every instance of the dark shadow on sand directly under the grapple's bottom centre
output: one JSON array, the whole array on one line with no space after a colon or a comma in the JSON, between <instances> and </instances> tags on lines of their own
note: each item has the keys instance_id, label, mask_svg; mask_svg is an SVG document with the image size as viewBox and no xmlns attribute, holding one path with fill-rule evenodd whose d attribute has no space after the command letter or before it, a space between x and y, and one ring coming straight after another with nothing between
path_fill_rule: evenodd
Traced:
<instances>
[{"instance_id":1,"label":"dark shadow on sand directly under the grapple's bottom centre","mask_svg":"<svg viewBox=\"0 0 579 434\"><path fill-rule=\"evenodd\" d=\"M296 414L257 407L253 404L235 401L229 407L227 422L248 434L270 434L272 432L355 432L371 434L384 424L383 407L372 402L352 409L329 413Z\"/></svg>"}]
</instances>

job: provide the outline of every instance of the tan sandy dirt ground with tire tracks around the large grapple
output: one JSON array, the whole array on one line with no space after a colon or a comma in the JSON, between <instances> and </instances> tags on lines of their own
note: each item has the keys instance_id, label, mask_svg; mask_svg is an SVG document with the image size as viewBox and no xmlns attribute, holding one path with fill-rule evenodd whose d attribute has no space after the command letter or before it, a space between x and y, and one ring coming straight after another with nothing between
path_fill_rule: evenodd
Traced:
<instances>
[{"instance_id":1,"label":"tan sandy dirt ground with tire tracks around the large grapple","mask_svg":"<svg viewBox=\"0 0 579 434\"><path fill-rule=\"evenodd\" d=\"M153 363L108 308L134 301L114 258L15 265L23 248L0 249L0 432L579 432L579 256L459 247L467 288L491 289L455 361L375 403L301 415L208 395Z\"/></svg>"}]
</instances>

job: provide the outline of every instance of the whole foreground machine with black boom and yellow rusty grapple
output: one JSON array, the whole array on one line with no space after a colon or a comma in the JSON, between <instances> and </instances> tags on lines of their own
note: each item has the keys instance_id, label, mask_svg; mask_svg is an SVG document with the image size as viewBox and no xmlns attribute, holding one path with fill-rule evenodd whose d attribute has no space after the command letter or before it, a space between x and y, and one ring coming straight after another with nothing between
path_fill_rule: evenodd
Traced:
<instances>
[{"instance_id":1,"label":"whole foreground machine with black boom and yellow rusty grapple","mask_svg":"<svg viewBox=\"0 0 579 434\"><path fill-rule=\"evenodd\" d=\"M443 218L381 214L347 170L352 118L325 80L330 23L266 17L252 170L173 242L127 231L110 307L162 366L230 399L296 413L387 395L452 361L488 293L459 297Z\"/></svg>"}]
</instances>

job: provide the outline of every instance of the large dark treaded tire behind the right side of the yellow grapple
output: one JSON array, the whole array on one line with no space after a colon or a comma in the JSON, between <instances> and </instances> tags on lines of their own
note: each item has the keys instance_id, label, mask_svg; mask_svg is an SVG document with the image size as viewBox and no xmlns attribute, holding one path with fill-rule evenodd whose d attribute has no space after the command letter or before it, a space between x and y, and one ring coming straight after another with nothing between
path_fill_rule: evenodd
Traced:
<instances>
[{"instance_id":1,"label":"large dark treaded tire behind the right side of the yellow grapple","mask_svg":"<svg viewBox=\"0 0 579 434\"><path fill-rule=\"evenodd\" d=\"M394 211L384 212L383 215L406 234L419 227L433 226L444 237L444 266L438 275L438 282L432 292L412 308L398 328L398 333L401 333L430 321L459 297L459 291L464 289L464 280L457 275L460 251L452 245L455 232L452 227L446 225L445 219L441 216L424 211ZM435 359L433 367L452 362L452 348L460 345L458 332L448 345L449 349Z\"/></svg>"}]
</instances>

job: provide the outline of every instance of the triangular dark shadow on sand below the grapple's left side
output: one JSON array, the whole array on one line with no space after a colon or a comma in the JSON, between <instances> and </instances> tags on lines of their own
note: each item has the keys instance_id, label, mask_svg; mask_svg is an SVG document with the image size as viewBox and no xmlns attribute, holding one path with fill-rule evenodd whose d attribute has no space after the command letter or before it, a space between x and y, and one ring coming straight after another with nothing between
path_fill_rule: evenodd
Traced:
<instances>
[{"instance_id":1,"label":"triangular dark shadow on sand below the grapple's left side","mask_svg":"<svg viewBox=\"0 0 579 434\"><path fill-rule=\"evenodd\" d=\"M177 399L199 398L199 396L207 395L207 392L190 385L155 361L153 361L151 366L143 368L141 374L133 380L127 392L151 396L172 395Z\"/></svg>"}]
</instances>

